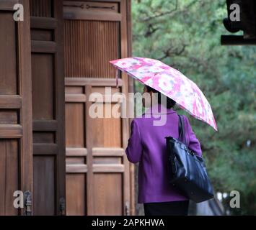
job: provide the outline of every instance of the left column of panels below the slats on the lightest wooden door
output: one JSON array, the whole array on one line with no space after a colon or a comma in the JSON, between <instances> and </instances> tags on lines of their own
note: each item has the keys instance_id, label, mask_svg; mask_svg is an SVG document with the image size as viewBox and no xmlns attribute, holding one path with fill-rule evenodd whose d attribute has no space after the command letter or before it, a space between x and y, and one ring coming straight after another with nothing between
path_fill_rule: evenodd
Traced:
<instances>
[{"instance_id":1,"label":"left column of panels below the slats on the lightest wooden door","mask_svg":"<svg viewBox=\"0 0 256 230\"><path fill-rule=\"evenodd\" d=\"M66 91L66 202L67 215L87 215L86 89Z\"/></svg>"}]
</instances>

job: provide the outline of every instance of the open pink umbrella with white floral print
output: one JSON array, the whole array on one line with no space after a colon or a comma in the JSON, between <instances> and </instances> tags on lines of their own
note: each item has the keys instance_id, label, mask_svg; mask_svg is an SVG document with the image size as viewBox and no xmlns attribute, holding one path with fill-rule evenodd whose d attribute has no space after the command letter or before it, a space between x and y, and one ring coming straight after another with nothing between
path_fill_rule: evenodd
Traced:
<instances>
[{"instance_id":1,"label":"open pink umbrella with white floral print","mask_svg":"<svg viewBox=\"0 0 256 230\"><path fill-rule=\"evenodd\" d=\"M176 101L181 109L218 131L213 111L206 96L192 80L179 70L146 57L127 57L110 63L136 80Z\"/></svg>"}]
</instances>

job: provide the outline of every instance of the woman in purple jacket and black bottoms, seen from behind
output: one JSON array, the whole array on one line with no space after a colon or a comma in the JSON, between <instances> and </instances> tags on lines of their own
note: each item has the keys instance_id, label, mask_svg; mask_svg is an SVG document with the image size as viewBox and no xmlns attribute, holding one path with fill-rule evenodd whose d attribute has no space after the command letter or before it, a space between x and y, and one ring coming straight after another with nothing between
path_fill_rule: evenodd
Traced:
<instances>
[{"instance_id":1,"label":"woman in purple jacket and black bottoms, seen from behind","mask_svg":"<svg viewBox=\"0 0 256 230\"><path fill-rule=\"evenodd\" d=\"M157 103L153 104L141 118L131 122L131 137L125 153L128 160L139 162L138 166L138 203L144 203L145 216L186 216L189 199L180 190L174 188L167 180L166 142L167 136L178 138L177 112L173 110L175 101L166 98L161 103L161 93L144 87L144 93L150 93L151 104L157 93ZM163 95L162 95L163 96ZM145 106L145 101L143 101ZM163 106L165 106L163 108ZM164 110L162 110L164 109ZM154 125L156 115L165 111L166 122L163 126ZM146 115L147 114L147 115ZM149 116L151 115L151 116ZM190 126L187 116L184 117L185 138L188 147L201 156L200 143Z\"/></svg>"}]
</instances>

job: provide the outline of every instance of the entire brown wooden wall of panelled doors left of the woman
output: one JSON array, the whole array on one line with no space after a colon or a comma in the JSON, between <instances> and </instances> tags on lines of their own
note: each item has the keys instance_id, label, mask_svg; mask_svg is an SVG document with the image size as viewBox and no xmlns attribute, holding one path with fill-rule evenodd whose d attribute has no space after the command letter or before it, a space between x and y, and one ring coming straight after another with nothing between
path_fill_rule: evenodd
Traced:
<instances>
[{"instance_id":1,"label":"entire brown wooden wall of panelled doors left of the woman","mask_svg":"<svg viewBox=\"0 0 256 230\"><path fill-rule=\"evenodd\" d=\"M128 119L89 116L128 94L109 60L129 54L129 3L0 1L0 215L132 213ZM89 100L97 92L103 101ZM32 206L14 208L14 190L29 190Z\"/></svg>"}]
</instances>

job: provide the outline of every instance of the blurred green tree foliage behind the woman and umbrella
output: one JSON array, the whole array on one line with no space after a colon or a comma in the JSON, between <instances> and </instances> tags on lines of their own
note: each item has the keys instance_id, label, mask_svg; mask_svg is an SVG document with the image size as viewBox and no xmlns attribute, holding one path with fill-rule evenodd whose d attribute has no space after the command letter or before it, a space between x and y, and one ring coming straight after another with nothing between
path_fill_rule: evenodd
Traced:
<instances>
[{"instance_id":1,"label":"blurred green tree foliage behind the woman and umbrella","mask_svg":"<svg viewBox=\"0 0 256 230\"><path fill-rule=\"evenodd\" d=\"M224 17L223 0L133 0L133 55L162 60L202 89L219 132L189 117L215 190L238 190L241 208L231 212L256 214L256 47L221 46Z\"/></svg>"}]
</instances>

